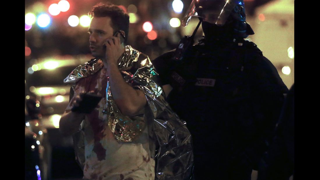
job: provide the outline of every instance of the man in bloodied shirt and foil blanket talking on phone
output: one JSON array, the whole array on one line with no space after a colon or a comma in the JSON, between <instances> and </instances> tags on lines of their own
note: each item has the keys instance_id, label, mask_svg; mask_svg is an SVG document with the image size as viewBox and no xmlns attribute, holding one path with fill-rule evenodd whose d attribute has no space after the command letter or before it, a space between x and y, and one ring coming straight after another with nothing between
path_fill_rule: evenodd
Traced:
<instances>
[{"instance_id":1,"label":"man in bloodied shirt and foil blanket talking on phone","mask_svg":"<svg viewBox=\"0 0 320 180\"><path fill-rule=\"evenodd\" d=\"M96 59L65 78L74 94L60 119L61 132L73 134L84 179L188 179L190 133L164 101L148 56L121 43L121 36L124 43L128 37L128 14L116 5L97 4L89 15ZM90 92L102 96L97 107L75 111L85 101L83 93Z\"/></svg>"}]
</instances>

